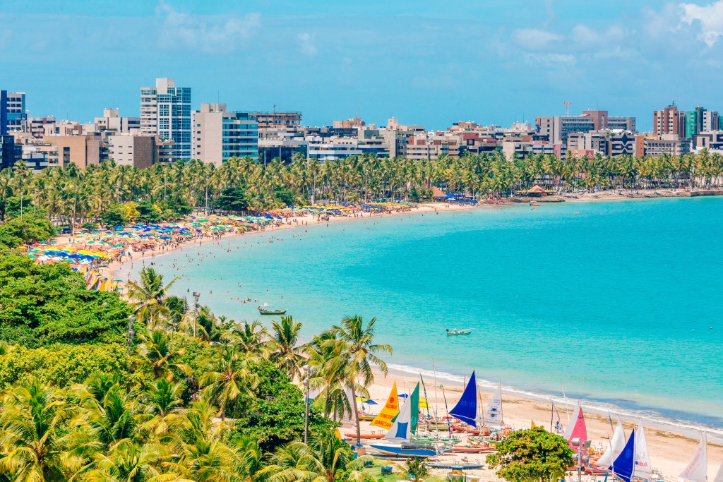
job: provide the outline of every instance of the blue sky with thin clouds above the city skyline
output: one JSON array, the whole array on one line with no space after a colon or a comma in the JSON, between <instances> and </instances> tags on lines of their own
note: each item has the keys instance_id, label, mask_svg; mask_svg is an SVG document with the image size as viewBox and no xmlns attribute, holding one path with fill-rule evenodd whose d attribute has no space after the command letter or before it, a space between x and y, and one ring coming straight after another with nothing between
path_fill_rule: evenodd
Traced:
<instances>
[{"instance_id":1,"label":"blue sky with thin clouds above the city skyline","mask_svg":"<svg viewBox=\"0 0 723 482\"><path fill-rule=\"evenodd\" d=\"M0 0L0 88L30 115L137 116L173 77L194 108L299 110L439 129L671 100L722 110L723 0Z\"/></svg>"}]
</instances>

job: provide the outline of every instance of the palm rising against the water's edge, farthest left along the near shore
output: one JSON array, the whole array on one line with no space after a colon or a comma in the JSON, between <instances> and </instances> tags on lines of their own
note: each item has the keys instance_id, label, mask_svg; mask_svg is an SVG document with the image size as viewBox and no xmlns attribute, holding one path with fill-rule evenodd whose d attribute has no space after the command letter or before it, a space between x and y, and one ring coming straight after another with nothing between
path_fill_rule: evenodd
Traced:
<instances>
[{"instance_id":1,"label":"palm rising against the water's edge, farthest left along the near shore","mask_svg":"<svg viewBox=\"0 0 723 482\"><path fill-rule=\"evenodd\" d=\"M128 282L128 298L135 301L138 321L155 327L158 322L168 317L171 311L165 302L168 290L176 283L176 280L178 277L174 277L171 283L163 285L163 275L155 272L153 268L143 268L140 271L140 283Z\"/></svg>"}]
</instances>

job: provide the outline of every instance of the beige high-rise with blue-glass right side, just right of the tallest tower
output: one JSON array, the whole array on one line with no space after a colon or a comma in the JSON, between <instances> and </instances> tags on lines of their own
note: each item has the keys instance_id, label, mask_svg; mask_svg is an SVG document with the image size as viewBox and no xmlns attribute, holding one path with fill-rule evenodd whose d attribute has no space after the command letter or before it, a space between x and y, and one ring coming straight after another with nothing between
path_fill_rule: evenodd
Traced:
<instances>
[{"instance_id":1,"label":"beige high-rise with blue-glass right side, just right of the tallest tower","mask_svg":"<svg viewBox=\"0 0 723 482\"><path fill-rule=\"evenodd\" d=\"M259 158L258 123L246 112L228 112L226 104L201 104L193 115L193 157L221 165L230 158Z\"/></svg>"}]
</instances>

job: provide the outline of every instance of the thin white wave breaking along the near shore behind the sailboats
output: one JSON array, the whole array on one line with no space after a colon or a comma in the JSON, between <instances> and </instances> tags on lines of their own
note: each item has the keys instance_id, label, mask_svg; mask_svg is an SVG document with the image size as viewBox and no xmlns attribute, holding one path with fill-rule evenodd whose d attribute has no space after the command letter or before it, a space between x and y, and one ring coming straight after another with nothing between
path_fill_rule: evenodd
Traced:
<instances>
[{"instance_id":1,"label":"thin white wave breaking along the near shore behind the sailboats","mask_svg":"<svg viewBox=\"0 0 723 482\"><path fill-rule=\"evenodd\" d=\"M388 363L387 366L390 371L401 372L404 375L419 374L425 379L435 377L437 380L441 379L459 385L462 385L465 382L465 377L450 374L444 371L432 371L420 369L416 366L407 366L395 363ZM485 392L492 392L495 388L497 388L497 382L480 379L479 377L476 380L477 387ZM699 416L694 413L677 410L634 408L633 406L625 406L624 400L616 400L615 403L612 401L595 400L592 398L573 400L565 396L560 396L559 394L531 392L529 390L521 390L518 387L510 387L506 385L502 385L502 392L527 400L542 402L552 401L552 403L555 403L555 405L560 408L565 406L570 407L570 405L574 405L579 402L584 409L591 413L603 416L615 414L620 416L620 418L623 418L623 420L629 421L642 420L645 422L646 426L653 426L656 429L679 432L690 436L691 438L696 438L700 434L700 431L704 429L711 442L723 442L723 418Z\"/></svg>"}]
</instances>

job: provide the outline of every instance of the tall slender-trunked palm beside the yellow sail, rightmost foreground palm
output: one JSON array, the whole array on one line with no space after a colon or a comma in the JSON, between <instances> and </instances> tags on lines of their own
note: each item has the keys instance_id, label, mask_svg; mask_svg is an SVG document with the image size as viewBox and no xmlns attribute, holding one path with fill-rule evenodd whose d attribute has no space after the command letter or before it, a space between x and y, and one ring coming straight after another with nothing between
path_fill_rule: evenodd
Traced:
<instances>
[{"instance_id":1,"label":"tall slender-trunked palm beside the yellow sail, rightmost foreground palm","mask_svg":"<svg viewBox=\"0 0 723 482\"><path fill-rule=\"evenodd\" d=\"M366 392L367 387L374 382L372 366L376 366L383 374L388 373L387 363L377 356L377 353L392 353L390 345L374 343L376 317L369 320L364 326L361 316L345 317L341 326L334 326L332 331L338 340L328 340L333 347L333 359L330 374L338 376L344 386L351 390L351 400L354 403L354 421L356 423L356 444L361 445L361 428L359 426L359 408L356 403L357 387L361 384Z\"/></svg>"}]
</instances>

